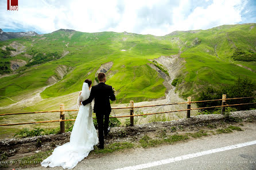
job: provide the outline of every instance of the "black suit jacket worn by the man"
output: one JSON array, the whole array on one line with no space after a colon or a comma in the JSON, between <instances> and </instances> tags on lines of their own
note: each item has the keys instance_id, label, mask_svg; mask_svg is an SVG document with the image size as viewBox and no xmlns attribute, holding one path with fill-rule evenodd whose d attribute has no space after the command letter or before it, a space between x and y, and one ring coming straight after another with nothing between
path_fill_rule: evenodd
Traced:
<instances>
[{"instance_id":1,"label":"black suit jacket worn by the man","mask_svg":"<svg viewBox=\"0 0 256 170\"><path fill-rule=\"evenodd\" d=\"M109 100L115 100L115 94L112 86L106 85L104 84L104 82L100 82L98 85L92 86L89 98L87 98L87 100L84 100L82 104L87 105L88 103L92 102L92 100L94 100L94 113L110 113L111 106Z\"/></svg>"}]
</instances>

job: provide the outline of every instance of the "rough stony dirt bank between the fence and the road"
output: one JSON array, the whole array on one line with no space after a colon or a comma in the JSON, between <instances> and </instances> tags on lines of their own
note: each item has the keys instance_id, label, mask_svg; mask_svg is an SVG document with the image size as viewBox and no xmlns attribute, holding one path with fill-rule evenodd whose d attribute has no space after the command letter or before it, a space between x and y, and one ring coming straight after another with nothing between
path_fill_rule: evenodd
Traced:
<instances>
[{"instance_id":1,"label":"rough stony dirt bank between the fence and the road","mask_svg":"<svg viewBox=\"0 0 256 170\"><path fill-rule=\"evenodd\" d=\"M175 121L152 122L150 124L135 125L129 127L111 128L106 145L117 142L138 143L143 136L148 135L154 139L165 132L166 135L179 135L199 132L200 130L211 132L214 129L226 128L227 126L241 126L246 129L247 126L255 125L256 110L246 110L232 112L230 118L222 114L203 114L192 116L191 118L182 118ZM37 137L28 137L24 139L5 139L0 141L1 154L5 152L8 157L5 161L19 159L23 156L34 155L40 151L49 151L59 145L69 141L71 133L60 135L44 135ZM191 139L192 140L192 139ZM89 157L94 157L90 155Z\"/></svg>"}]
</instances>

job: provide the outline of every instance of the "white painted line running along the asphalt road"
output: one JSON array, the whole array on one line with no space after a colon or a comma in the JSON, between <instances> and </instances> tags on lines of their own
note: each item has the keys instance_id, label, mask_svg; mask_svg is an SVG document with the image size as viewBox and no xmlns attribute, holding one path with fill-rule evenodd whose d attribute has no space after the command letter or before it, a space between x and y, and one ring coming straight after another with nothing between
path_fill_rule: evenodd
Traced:
<instances>
[{"instance_id":1,"label":"white painted line running along the asphalt road","mask_svg":"<svg viewBox=\"0 0 256 170\"><path fill-rule=\"evenodd\" d=\"M203 151L203 152L191 153L191 154L183 155L183 156L172 157L170 159L154 161L154 162L151 162L151 163L145 163L145 164L134 165L134 166L130 166L130 167L118 168L118 169L114 169L114 170L127 170L127 169L135 170L135 169L144 169L144 168L156 167L156 166L159 166L159 165L174 163L176 161L191 159L193 157L199 157L199 156L208 155L208 154L216 153L216 152L228 151L228 150L231 150L231 149L247 147L249 145L255 145L255 144L256 144L256 140L250 141L250 142L247 142L247 143L242 143L242 144L230 145L228 147L216 148L216 149L211 149L211 150L208 150L208 151Z\"/></svg>"}]
</instances>

